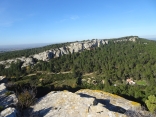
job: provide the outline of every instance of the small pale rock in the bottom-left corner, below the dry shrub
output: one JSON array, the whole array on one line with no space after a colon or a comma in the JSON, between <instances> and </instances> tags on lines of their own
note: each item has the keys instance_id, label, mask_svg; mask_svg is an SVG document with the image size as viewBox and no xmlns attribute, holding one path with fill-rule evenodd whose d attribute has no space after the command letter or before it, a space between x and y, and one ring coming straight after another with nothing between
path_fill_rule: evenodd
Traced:
<instances>
[{"instance_id":1,"label":"small pale rock in the bottom-left corner, below the dry shrub","mask_svg":"<svg viewBox=\"0 0 156 117\"><path fill-rule=\"evenodd\" d=\"M0 117L18 117L15 108L7 108L0 113Z\"/></svg>"}]
</instances>

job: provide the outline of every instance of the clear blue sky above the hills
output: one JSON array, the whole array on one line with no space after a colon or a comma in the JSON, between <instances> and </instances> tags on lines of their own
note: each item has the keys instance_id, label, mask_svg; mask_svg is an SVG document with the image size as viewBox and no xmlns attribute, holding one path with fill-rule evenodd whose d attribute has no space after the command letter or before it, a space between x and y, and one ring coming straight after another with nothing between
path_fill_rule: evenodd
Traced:
<instances>
[{"instance_id":1,"label":"clear blue sky above the hills","mask_svg":"<svg viewBox=\"0 0 156 117\"><path fill-rule=\"evenodd\" d=\"M156 0L0 0L0 45L156 37Z\"/></svg>"}]
</instances>

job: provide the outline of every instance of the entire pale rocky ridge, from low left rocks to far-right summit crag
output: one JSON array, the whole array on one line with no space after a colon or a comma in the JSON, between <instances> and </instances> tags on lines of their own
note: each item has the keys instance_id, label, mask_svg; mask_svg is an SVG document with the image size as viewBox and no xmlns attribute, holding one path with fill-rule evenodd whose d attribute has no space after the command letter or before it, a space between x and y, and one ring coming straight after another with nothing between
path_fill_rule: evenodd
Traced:
<instances>
[{"instance_id":1,"label":"entire pale rocky ridge, from low left rocks to far-right summit crag","mask_svg":"<svg viewBox=\"0 0 156 117\"><path fill-rule=\"evenodd\" d=\"M115 40L114 43L122 42L122 41L135 42L136 39L138 39L138 37L134 36L134 37L129 37L128 39L126 38L126 39L121 39L121 40ZM21 62L23 62L22 67L26 67L29 65L34 65L35 64L34 59L48 61L52 58L60 57L65 54L73 54L76 52L82 52L84 50L90 50L92 48L100 47L106 44L109 44L109 40L94 39L94 40L88 40L88 41L73 42L73 43L70 43L70 45L68 46L46 50L44 52L41 52L35 55L30 55L29 57L19 57L15 59L8 59L5 61L0 61L0 64L5 65L5 68L9 68L12 62L16 63L18 60L20 60Z\"/></svg>"}]
</instances>

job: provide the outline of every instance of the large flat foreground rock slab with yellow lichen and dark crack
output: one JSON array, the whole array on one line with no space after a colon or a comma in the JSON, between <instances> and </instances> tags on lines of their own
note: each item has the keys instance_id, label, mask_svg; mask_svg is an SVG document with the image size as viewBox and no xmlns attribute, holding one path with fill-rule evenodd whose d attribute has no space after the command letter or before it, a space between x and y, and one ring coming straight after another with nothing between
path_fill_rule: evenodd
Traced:
<instances>
[{"instance_id":1,"label":"large flat foreground rock slab with yellow lichen and dark crack","mask_svg":"<svg viewBox=\"0 0 156 117\"><path fill-rule=\"evenodd\" d=\"M96 90L52 91L31 107L39 117L126 117L127 109L140 104Z\"/></svg>"}]
</instances>

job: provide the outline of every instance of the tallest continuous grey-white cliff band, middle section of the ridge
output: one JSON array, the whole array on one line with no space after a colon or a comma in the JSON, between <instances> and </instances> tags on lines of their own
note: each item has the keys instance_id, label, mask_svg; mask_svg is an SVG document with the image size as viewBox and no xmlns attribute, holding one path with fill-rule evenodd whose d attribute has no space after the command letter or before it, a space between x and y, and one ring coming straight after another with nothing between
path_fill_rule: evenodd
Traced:
<instances>
[{"instance_id":1,"label":"tallest continuous grey-white cliff band, middle section of the ridge","mask_svg":"<svg viewBox=\"0 0 156 117\"><path fill-rule=\"evenodd\" d=\"M100 47L101 45L108 44L108 40L92 40L85 42L75 42L68 46L47 50L45 52L35 54L32 57L38 60L48 61L51 58L63 56L65 54L73 54L74 52L82 52L83 50L90 50L94 47Z\"/></svg>"}]
</instances>

